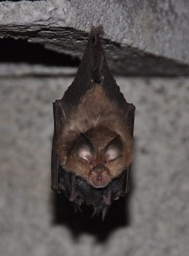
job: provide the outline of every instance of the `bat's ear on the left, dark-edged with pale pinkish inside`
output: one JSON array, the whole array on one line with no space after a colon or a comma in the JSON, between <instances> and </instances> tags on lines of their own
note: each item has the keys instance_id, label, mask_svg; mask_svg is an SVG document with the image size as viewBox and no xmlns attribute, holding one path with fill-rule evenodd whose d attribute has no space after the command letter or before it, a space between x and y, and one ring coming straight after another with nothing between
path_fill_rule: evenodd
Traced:
<instances>
[{"instance_id":1,"label":"bat's ear on the left, dark-edged with pale pinkish inside","mask_svg":"<svg viewBox=\"0 0 189 256\"><path fill-rule=\"evenodd\" d=\"M75 144L75 153L80 158L90 162L95 155L95 147L87 136L81 132L81 137Z\"/></svg>"}]
</instances>

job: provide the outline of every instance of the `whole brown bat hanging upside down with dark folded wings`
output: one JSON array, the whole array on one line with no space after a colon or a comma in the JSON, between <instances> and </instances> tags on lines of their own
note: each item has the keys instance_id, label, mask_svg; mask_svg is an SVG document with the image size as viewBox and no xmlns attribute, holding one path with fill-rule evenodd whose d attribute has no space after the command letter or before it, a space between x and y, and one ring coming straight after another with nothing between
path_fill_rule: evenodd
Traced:
<instances>
[{"instance_id":1,"label":"whole brown bat hanging upside down with dark folded wings","mask_svg":"<svg viewBox=\"0 0 189 256\"><path fill-rule=\"evenodd\" d=\"M91 27L76 77L53 103L51 177L75 212L86 202L104 220L113 200L130 192L135 107L110 72L102 34L102 25Z\"/></svg>"}]
</instances>

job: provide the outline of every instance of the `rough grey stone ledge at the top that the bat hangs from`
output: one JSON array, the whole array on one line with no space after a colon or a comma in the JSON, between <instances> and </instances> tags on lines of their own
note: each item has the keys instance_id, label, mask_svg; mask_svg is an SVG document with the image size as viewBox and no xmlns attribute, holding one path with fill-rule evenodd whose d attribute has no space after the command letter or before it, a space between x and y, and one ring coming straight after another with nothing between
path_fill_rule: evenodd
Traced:
<instances>
[{"instance_id":1,"label":"rough grey stone ledge at the top that the bat hangs from","mask_svg":"<svg viewBox=\"0 0 189 256\"><path fill-rule=\"evenodd\" d=\"M27 38L81 58L90 25L100 22L114 73L188 75L188 13L188 0L3 1L0 37Z\"/></svg>"}]
</instances>

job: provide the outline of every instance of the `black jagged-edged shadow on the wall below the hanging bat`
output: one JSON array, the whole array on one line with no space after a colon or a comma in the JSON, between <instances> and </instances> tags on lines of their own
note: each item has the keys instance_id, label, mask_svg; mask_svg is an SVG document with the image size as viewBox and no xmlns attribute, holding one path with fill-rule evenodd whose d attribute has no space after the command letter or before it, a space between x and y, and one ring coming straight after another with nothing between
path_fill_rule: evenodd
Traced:
<instances>
[{"instance_id":1,"label":"black jagged-edged shadow on the wall below the hanging bat","mask_svg":"<svg viewBox=\"0 0 189 256\"><path fill-rule=\"evenodd\" d=\"M98 242L104 242L111 231L129 225L129 196L114 200L104 221L102 221L101 213L91 218L92 205L83 204L82 213L78 211L75 214L63 192L55 194L54 197L55 219L53 224L66 225L71 229L75 238L81 233L90 233L97 237Z\"/></svg>"}]
</instances>

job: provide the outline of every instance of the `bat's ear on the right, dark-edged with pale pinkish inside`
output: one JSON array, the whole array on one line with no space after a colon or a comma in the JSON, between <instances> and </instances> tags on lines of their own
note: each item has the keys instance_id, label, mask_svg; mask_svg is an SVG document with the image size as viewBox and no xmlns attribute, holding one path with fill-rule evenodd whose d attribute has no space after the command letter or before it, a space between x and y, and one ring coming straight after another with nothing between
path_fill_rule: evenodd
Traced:
<instances>
[{"instance_id":1,"label":"bat's ear on the right, dark-edged with pale pinkish inside","mask_svg":"<svg viewBox=\"0 0 189 256\"><path fill-rule=\"evenodd\" d=\"M123 144L119 139L119 136L116 136L112 139L104 148L104 159L107 162L113 161L121 157L123 152Z\"/></svg>"}]
</instances>

